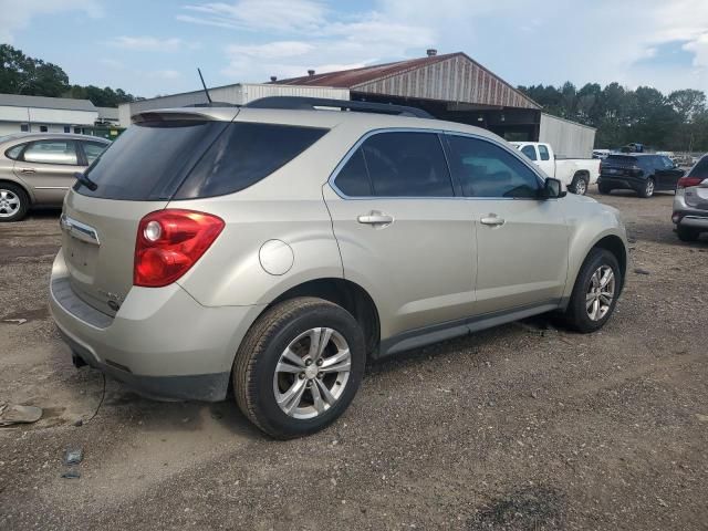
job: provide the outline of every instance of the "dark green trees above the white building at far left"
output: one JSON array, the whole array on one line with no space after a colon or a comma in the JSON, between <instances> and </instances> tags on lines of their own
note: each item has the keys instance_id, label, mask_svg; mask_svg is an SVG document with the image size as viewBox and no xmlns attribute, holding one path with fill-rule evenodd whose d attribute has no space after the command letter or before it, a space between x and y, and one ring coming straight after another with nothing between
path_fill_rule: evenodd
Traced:
<instances>
[{"instance_id":1,"label":"dark green trees above the white building at far left","mask_svg":"<svg viewBox=\"0 0 708 531\"><path fill-rule=\"evenodd\" d=\"M60 66L29 58L9 44L0 44L0 93L90 100L97 107L116 107L136 100L123 88L70 85Z\"/></svg>"}]
</instances>

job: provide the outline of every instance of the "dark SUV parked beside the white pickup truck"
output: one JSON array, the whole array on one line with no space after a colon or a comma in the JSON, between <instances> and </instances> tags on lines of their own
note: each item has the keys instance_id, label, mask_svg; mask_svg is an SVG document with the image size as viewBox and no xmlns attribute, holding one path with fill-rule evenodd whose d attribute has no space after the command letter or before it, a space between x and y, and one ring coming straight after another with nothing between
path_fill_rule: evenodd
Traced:
<instances>
[{"instance_id":1,"label":"dark SUV parked beside the white pickup truck","mask_svg":"<svg viewBox=\"0 0 708 531\"><path fill-rule=\"evenodd\" d=\"M635 190L648 198L655 191L675 190L684 170L662 155L610 155L600 166L597 189L601 194L612 190Z\"/></svg>"}]
</instances>

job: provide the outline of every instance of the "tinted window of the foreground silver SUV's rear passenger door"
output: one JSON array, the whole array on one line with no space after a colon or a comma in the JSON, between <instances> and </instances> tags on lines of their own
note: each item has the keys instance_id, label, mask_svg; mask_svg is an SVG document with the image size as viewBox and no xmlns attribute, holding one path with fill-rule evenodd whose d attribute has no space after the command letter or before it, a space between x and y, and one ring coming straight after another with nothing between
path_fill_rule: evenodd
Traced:
<instances>
[{"instance_id":1,"label":"tinted window of the foreground silver SUV's rear passenger door","mask_svg":"<svg viewBox=\"0 0 708 531\"><path fill-rule=\"evenodd\" d=\"M351 197L455 195L436 133L379 133L368 137L342 168L335 184Z\"/></svg>"}]
</instances>

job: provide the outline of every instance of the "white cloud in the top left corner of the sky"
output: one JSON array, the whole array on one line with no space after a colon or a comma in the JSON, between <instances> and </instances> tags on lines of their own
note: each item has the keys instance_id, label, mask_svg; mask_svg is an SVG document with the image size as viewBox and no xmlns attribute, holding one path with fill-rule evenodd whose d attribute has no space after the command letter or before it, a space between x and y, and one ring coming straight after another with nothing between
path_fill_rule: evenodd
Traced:
<instances>
[{"instance_id":1,"label":"white cloud in the top left corner of the sky","mask_svg":"<svg viewBox=\"0 0 708 531\"><path fill-rule=\"evenodd\" d=\"M103 17L103 9L96 0L0 0L0 42L13 42L14 34L37 17L64 11L83 11L92 18Z\"/></svg>"}]
</instances>

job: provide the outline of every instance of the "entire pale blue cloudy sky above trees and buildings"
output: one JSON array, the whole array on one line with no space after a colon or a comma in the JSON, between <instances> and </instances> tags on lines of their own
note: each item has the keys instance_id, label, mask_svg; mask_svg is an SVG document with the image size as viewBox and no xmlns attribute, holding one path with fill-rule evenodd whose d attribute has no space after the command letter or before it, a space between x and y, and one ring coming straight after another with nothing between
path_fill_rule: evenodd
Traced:
<instances>
[{"instance_id":1,"label":"entire pale blue cloudy sky above trees and buildings","mask_svg":"<svg viewBox=\"0 0 708 531\"><path fill-rule=\"evenodd\" d=\"M142 96L462 51L518 84L708 93L708 0L0 0L0 42Z\"/></svg>"}]
</instances>

